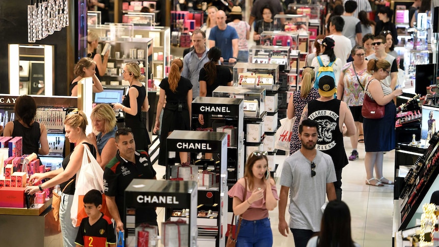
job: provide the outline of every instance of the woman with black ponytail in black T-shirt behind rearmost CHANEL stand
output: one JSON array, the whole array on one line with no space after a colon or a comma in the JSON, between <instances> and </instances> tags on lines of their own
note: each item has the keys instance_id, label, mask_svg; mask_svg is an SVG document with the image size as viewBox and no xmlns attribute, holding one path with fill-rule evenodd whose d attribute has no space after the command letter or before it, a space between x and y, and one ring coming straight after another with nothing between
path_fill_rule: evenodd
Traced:
<instances>
[{"instance_id":1,"label":"woman with black ponytail in black T-shirt behind rearmost CHANEL stand","mask_svg":"<svg viewBox=\"0 0 439 247\"><path fill-rule=\"evenodd\" d=\"M221 49L214 46L207 52L209 62L200 70L200 97L212 97L212 92L218 86L232 86L232 73L226 66L219 65ZM200 114L198 121L204 125L204 117Z\"/></svg>"}]
</instances>

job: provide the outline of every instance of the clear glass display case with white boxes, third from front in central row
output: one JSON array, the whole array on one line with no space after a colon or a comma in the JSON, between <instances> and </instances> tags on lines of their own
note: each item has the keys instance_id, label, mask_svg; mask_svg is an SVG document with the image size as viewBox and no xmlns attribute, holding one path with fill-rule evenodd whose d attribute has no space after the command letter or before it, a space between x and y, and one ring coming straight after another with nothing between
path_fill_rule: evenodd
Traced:
<instances>
[{"instance_id":1,"label":"clear glass display case with white boxes, third from front in central row","mask_svg":"<svg viewBox=\"0 0 439 247\"><path fill-rule=\"evenodd\" d=\"M254 45L249 49L249 58L253 64L279 65L279 70L289 71L290 53L291 47L289 46ZM234 67L236 67L236 65ZM250 67L255 68L254 66ZM260 66L260 68L266 70L269 67ZM243 69L249 69L249 67L245 67ZM278 81L278 79L276 79L276 81Z\"/></svg>"}]
</instances>

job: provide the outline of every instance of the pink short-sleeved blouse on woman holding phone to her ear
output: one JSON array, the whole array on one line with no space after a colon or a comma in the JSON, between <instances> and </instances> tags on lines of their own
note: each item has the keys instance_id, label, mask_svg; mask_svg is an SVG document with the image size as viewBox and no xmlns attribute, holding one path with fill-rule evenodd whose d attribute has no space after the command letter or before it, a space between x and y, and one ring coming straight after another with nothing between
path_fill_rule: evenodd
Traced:
<instances>
[{"instance_id":1,"label":"pink short-sleeved blouse on woman holding phone to her ear","mask_svg":"<svg viewBox=\"0 0 439 247\"><path fill-rule=\"evenodd\" d=\"M233 187L229 190L229 197L237 197L242 200L244 197L244 187L240 183L235 183ZM266 191L265 191L266 193ZM276 185L271 186L271 193L276 200L279 200L278 190L276 189ZM249 199L252 196L252 191L247 190L247 195L244 200ZM245 202L247 203L247 202ZM254 202L245 212L242 214L242 218L248 221L257 221L258 219L263 219L268 217L268 210L265 207L265 196L262 200L258 200Z\"/></svg>"}]
</instances>

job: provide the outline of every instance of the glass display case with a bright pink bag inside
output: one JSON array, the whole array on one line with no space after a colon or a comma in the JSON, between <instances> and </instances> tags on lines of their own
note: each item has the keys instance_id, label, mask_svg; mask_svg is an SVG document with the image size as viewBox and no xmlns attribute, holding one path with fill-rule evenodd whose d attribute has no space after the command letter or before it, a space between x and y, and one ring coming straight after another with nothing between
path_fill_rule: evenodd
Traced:
<instances>
[{"instance_id":1,"label":"glass display case with a bright pink bag inside","mask_svg":"<svg viewBox=\"0 0 439 247\"><path fill-rule=\"evenodd\" d=\"M260 44L289 46L291 49L296 50L299 46L298 39L298 32L264 31L261 33Z\"/></svg>"}]
</instances>

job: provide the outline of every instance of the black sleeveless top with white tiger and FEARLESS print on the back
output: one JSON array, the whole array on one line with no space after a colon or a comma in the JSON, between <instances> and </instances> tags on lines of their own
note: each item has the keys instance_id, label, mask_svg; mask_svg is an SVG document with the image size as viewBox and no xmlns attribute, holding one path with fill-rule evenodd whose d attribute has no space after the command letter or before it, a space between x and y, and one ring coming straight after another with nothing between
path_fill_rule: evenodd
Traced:
<instances>
[{"instance_id":1,"label":"black sleeveless top with white tiger and FEARLESS print on the back","mask_svg":"<svg viewBox=\"0 0 439 247\"><path fill-rule=\"evenodd\" d=\"M338 99L325 102L315 99L308 103L308 119L319 123L316 149L331 156L336 170L348 164L340 132L340 103Z\"/></svg>"}]
</instances>

